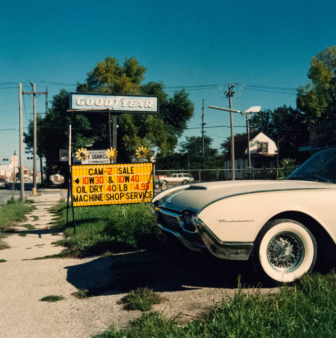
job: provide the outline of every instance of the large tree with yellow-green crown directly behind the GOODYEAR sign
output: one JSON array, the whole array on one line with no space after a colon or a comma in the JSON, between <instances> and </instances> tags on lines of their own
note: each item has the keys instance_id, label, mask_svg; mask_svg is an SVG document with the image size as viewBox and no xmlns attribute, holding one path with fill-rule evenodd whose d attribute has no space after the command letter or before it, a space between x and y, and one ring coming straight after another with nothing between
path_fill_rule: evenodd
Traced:
<instances>
[{"instance_id":1,"label":"large tree with yellow-green crown directly behind the GOODYEAR sign","mask_svg":"<svg viewBox=\"0 0 336 338\"><path fill-rule=\"evenodd\" d=\"M119 65L115 58L107 57L87 74L86 83L78 84L78 92L110 92L120 94L155 95L159 98L160 114L121 114L118 117L117 144L119 161L130 161L135 149L145 146L158 148L166 156L174 152L178 138L193 116L194 105L185 90L176 91L172 97L164 92L162 82L141 84L146 68L135 58L126 58ZM100 130L100 137L94 139L97 149L104 149L108 140L106 116L87 114L91 128ZM106 114L105 114L106 115ZM102 148L103 147L103 148Z\"/></svg>"}]
</instances>

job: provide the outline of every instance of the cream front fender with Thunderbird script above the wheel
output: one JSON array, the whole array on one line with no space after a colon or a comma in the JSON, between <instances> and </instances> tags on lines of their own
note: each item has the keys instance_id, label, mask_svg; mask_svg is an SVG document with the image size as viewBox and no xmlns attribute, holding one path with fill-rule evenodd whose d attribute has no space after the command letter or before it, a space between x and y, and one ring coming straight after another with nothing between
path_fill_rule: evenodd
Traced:
<instances>
[{"instance_id":1,"label":"cream front fender with Thunderbird script above the wheel","mask_svg":"<svg viewBox=\"0 0 336 338\"><path fill-rule=\"evenodd\" d=\"M336 242L336 213L330 213L335 206L335 188L258 191L213 201L197 217L221 242L254 242L269 219L297 211L314 218Z\"/></svg>"}]
</instances>

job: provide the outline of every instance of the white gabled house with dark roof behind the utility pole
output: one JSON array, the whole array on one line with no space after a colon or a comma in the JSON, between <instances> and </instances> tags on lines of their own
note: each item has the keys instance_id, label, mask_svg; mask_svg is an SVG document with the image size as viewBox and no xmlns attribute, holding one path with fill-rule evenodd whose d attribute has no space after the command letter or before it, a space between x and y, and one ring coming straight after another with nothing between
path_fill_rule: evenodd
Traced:
<instances>
[{"instance_id":1,"label":"white gabled house with dark roof behind the utility pole","mask_svg":"<svg viewBox=\"0 0 336 338\"><path fill-rule=\"evenodd\" d=\"M263 131L250 132L250 158L251 167L276 168L277 146L276 142L267 133ZM248 137L247 134L234 137L234 176L235 178L244 178L247 176L248 168ZM227 160L224 164L225 169L232 169L232 162ZM232 171L226 170L226 178L232 178Z\"/></svg>"}]
</instances>

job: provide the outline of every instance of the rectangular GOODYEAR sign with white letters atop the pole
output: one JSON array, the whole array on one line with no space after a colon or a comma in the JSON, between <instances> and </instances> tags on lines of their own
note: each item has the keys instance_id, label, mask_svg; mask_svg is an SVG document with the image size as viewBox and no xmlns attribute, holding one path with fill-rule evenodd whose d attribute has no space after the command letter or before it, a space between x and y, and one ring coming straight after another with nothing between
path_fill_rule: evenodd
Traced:
<instances>
[{"instance_id":1,"label":"rectangular GOODYEAR sign with white letters atop the pole","mask_svg":"<svg viewBox=\"0 0 336 338\"><path fill-rule=\"evenodd\" d=\"M156 114L159 103L157 96L70 93L70 109Z\"/></svg>"}]
</instances>

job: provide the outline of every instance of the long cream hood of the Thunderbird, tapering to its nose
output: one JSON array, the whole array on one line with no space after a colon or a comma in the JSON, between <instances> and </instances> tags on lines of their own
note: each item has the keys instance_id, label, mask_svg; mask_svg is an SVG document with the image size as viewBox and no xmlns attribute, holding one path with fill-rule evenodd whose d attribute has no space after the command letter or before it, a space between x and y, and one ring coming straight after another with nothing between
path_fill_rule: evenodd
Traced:
<instances>
[{"instance_id":1,"label":"long cream hood of the Thunderbird, tapering to its nose","mask_svg":"<svg viewBox=\"0 0 336 338\"><path fill-rule=\"evenodd\" d=\"M185 209L197 212L210 202L234 195L274 190L323 189L334 186L334 184L329 183L297 180L241 180L194 183L163 190L153 198L152 203L156 202L162 208L178 212Z\"/></svg>"}]
</instances>

